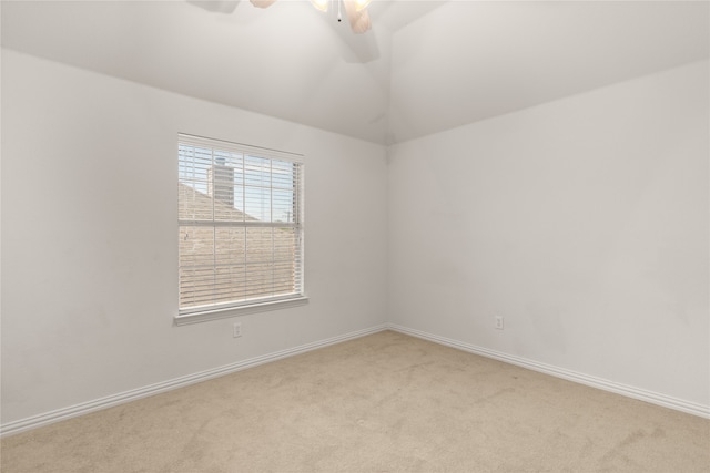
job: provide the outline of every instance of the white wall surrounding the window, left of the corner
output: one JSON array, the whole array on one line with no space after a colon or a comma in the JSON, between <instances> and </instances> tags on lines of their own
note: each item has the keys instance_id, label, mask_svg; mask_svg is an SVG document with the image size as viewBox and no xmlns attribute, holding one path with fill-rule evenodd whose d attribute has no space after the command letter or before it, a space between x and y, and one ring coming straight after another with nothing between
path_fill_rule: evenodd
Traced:
<instances>
[{"instance_id":1,"label":"white wall surrounding the window, left of the corner","mask_svg":"<svg viewBox=\"0 0 710 473\"><path fill-rule=\"evenodd\" d=\"M307 306L173 326L179 132L305 154ZM383 146L9 50L2 137L2 423L385 321Z\"/></svg>"}]
</instances>

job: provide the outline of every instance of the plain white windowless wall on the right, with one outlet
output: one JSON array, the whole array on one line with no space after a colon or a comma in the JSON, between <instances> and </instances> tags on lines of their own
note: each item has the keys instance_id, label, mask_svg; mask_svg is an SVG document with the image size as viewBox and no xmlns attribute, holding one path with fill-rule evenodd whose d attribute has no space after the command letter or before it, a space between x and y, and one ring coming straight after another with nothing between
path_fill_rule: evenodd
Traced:
<instances>
[{"instance_id":1,"label":"plain white windowless wall on the right, with one outlet","mask_svg":"<svg viewBox=\"0 0 710 473\"><path fill-rule=\"evenodd\" d=\"M392 147L389 320L710 407L708 75Z\"/></svg>"}]
</instances>

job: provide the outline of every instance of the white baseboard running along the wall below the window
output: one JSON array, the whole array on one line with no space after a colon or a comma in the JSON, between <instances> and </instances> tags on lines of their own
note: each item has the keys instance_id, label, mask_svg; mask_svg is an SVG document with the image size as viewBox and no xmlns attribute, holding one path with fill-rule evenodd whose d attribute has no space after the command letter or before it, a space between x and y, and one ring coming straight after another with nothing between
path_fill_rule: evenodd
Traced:
<instances>
[{"instance_id":1,"label":"white baseboard running along the wall below the window","mask_svg":"<svg viewBox=\"0 0 710 473\"><path fill-rule=\"evenodd\" d=\"M45 412L43 414L33 415L31 418L8 422L6 424L0 425L0 436L12 435L27 430L37 429L42 425L48 425L54 422L88 414L90 412L99 411L106 408L112 408L119 404L124 404L126 402L135 401L142 398L146 398L149 395L159 394L165 391L172 391L173 389L183 388L190 384L206 381L212 378L217 378L217 377L230 374L236 371L242 371L247 368L254 368L260 364L268 363L271 361L281 360L283 358L288 358L295 354L305 353L307 351L316 350L318 348L324 348L331 345L341 343L343 341L353 340L359 337L365 337L367 335L376 333L386 329L387 329L387 326L383 323L381 326L371 327L368 329L357 330L354 332L328 338L325 340L320 340L312 343L306 343L298 347L290 348L286 350L276 351L274 353L250 358L244 361L237 361L235 363L225 364L223 367L201 371L194 374L175 378L175 379L159 382L155 384L150 384L143 388L132 389L130 391L124 391L118 394L108 395L105 398L97 399L93 401L82 402L80 404L71 405L69 408L57 409L54 411Z\"/></svg>"}]
</instances>

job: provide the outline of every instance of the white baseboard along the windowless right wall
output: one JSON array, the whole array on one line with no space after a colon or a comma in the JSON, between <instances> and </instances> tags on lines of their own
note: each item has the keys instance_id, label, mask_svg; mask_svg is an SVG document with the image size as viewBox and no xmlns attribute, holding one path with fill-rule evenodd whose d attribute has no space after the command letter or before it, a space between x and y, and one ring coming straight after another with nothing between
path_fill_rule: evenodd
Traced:
<instances>
[{"instance_id":1,"label":"white baseboard along the windowless right wall","mask_svg":"<svg viewBox=\"0 0 710 473\"><path fill-rule=\"evenodd\" d=\"M580 373L580 372L568 370L565 368L554 367L551 364L540 363L538 361L528 360L526 358L507 354L507 353L503 353L495 350L489 350L487 348L477 347L475 345L466 343L458 340L453 340L446 337L439 337L437 335L410 329L408 327L398 326L396 323L387 323L387 329L397 331L404 335L422 338L424 340L433 341L435 343L468 351L470 353L480 354L481 357L493 358L498 361L516 364L518 367L527 368L529 370L538 371L545 374L550 374L556 378L562 378L568 381L586 384L591 388L597 388L604 391L621 394L627 398L637 399L640 401L649 402L651 404L662 405L665 408L674 409L677 411L710 419L710 405L703 405L703 404L698 404L696 402L684 401L682 399L671 398L669 395L659 394L657 392L633 388L630 385L605 380L601 378L596 378L589 374Z\"/></svg>"}]
</instances>

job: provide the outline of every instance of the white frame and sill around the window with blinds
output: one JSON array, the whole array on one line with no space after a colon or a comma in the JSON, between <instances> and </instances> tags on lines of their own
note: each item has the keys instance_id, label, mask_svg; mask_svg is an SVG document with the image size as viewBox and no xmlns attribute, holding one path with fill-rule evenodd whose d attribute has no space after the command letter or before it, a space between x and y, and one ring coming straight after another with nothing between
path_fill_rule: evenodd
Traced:
<instances>
[{"instance_id":1,"label":"white frame and sill around the window with blinds","mask_svg":"<svg viewBox=\"0 0 710 473\"><path fill-rule=\"evenodd\" d=\"M305 236L305 228L304 228L305 164L304 164L303 155L297 153L278 151L278 150L271 150L266 147L246 145L242 143L234 143L234 142L229 142L224 140L207 138L204 136L191 135L185 133L178 134L176 144L178 144L176 155L178 155L179 167L181 166L181 163L182 163L180 157L180 146L194 146L194 147L201 147L204 150L211 150L213 152L213 156L215 151L237 153L242 155L243 163L245 163L246 156L250 156L253 158L258 157L258 158L271 160L272 162L273 161L288 162L297 166L295 171L296 185L294 187L295 188L294 205L296 208L293 214L293 222L288 222L287 225L285 225L283 222L273 222L273 220L248 222L245 218L242 225L239 222L230 222L229 225L226 226L232 228L244 228L244 232L245 232L244 238L246 238L247 228L284 228L284 226L293 228L294 236L296 238L296 251L297 251L297 255L295 255L295 258L296 258L296 261L298 261L296 264L297 267L295 268L294 278L298 280L298 284L296 285L297 287L295 287L296 291L287 295L266 296L266 297L241 299L241 300L233 300L233 301L225 301L225 302L213 302L213 304L205 304L201 306L181 308L182 288L181 288L180 269L179 269L178 315L174 316L175 325L182 326L182 325L189 325L189 323L197 323L197 322L203 322L207 320L237 317L237 316L243 316L247 313L271 311L271 310L296 307L296 306L302 306L307 304L308 298L305 292L305 279L304 279L304 276L305 276L305 259L304 259L304 256L305 256L305 238L304 238ZM214 157L213 157L213 165L214 165ZM245 169L244 166L246 166L246 164L243 164L243 167L242 167L243 169ZM270 172L270 176L273 176L273 173ZM185 184L182 184L182 177L180 175L180 172L178 175L178 184L179 186L185 185ZM273 187L271 186L268 188L273 189ZM197 191L195 189L195 192ZM248 214L246 214L246 209L242 209L241 212L244 212L244 214L248 216ZM273 218L273 215L271 218ZM199 222L199 225L197 225L197 222ZM181 219L181 215L179 213L178 229L180 233L181 232L180 229L182 227L191 226L191 225L202 226L206 228L214 228L214 229L225 226L224 223L220 222L214 214L211 217L211 222L212 224L210 224L209 220ZM247 255L247 253L245 253L245 255ZM178 248L179 268L181 268L181 256L182 256L181 249ZM216 264L215 264L215 268L216 268Z\"/></svg>"}]
</instances>

